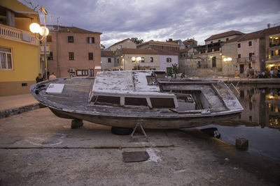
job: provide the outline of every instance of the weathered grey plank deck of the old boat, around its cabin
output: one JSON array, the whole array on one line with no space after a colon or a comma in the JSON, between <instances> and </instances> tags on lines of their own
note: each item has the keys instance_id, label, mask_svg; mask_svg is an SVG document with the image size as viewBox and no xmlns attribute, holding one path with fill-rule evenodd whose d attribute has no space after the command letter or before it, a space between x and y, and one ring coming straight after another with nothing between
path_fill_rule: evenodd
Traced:
<instances>
[{"instance_id":1,"label":"weathered grey plank deck of the old boat, around its cabin","mask_svg":"<svg viewBox=\"0 0 280 186\"><path fill-rule=\"evenodd\" d=\"M38 94L34 93L34 97L42 102L48 107L59 109L62 111L76 112L80 114L94 114L94 115L108 115L108 116L151 116L151 117L170 117L170 116L198 116L201 114L178 114L169 109L148 109L148 107L109 107L96 104L89 104L88 98L94 78L61 78L53 79L46 82L41 82L37 86L45 84ZM64 90L61 94L48 94L45 93L45 89L48 85L52 84L64 84ZM232 95L223 86L215 86L218 91L221 91L220 96L225 96L228 98L228 102L235 102ZM164 86L165 89L172 90L183 90L192 91L198 90L202 91L205 98L209 101L211 105L211 111L229 111L226 103L221 100L212 84L192 84L192 85L167 85ZM233 105L233 104L232 104ZM237 108L240 109L240 108Z\"/></svg>"}]
</instances>

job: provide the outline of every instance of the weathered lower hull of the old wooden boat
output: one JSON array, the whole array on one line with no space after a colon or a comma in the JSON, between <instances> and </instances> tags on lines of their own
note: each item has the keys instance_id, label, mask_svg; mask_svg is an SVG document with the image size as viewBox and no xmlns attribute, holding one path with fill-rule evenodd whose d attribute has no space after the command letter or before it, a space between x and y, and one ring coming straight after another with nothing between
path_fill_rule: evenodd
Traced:
<instances>
[{"instance_id":1,"label":"weathered lower hull of the old wooden boat","mask_svg":"<svg viewBox=\"0 0 280 186\"><path fill-rule=\"evenodd\" d=\"M91 114L79 114L67 111L61 111L59 109L50 108L53 114L60 118L68 119L81 119L92 123L101 125L109 125L113 127L135 127L137 123L146 129L180 129L188 127L200 127L203 125L209 125L217 123L218 121L225 121L228 119L238 118L239 113L218 115L218 116L197 116L197 117L123 117L123 116L102 116Z\"/></svg>"}]
</instances>

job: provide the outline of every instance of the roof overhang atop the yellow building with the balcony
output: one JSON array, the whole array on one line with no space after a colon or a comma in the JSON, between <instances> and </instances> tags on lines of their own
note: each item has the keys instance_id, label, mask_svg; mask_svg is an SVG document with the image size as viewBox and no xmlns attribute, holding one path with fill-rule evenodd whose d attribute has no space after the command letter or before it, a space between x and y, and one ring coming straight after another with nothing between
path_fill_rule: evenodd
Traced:
<instances>
[{"instance_id":1,"label":"roof overhang atop the yellow building with the balcony","mask_svg":"<svg viewBox=\"0 0 280 186\"><path fill-rule=\"evenodd\" d=\"M23 3L17 0L1 0L0 6L13 10L16 13L30 13L38 14L35 10L25 6Z\"/></svg>"}]
</instances>

